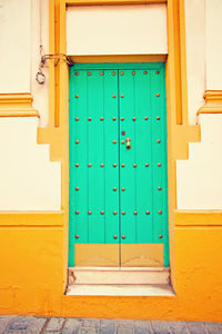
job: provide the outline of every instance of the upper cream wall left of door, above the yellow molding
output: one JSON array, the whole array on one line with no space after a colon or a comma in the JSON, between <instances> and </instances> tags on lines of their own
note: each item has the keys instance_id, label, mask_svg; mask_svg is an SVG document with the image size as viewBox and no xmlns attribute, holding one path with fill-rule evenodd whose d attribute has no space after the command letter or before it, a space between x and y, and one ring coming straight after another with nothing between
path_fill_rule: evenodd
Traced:
<instances>
[{"instance_id":1,"label":"upper cream wall left of door, above the yellow molding","mask_svg":"<svg viewBox=\"0 0 222 334\"><path fill-rule=\"evenodd\" d=\"M49 53L48 7L46 0L0 0L0 94L31 92L42 127L49 117L48 62L43 86L37 84L36 73L40 45Z\"/></svg>"}]
</instances>

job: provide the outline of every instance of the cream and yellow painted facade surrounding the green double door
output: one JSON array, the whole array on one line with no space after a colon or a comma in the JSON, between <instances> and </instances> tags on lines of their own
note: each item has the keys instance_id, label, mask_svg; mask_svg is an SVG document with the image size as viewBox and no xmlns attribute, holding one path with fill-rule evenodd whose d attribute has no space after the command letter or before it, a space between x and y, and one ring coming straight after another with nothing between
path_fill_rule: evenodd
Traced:
<instances>
[{"instance_id":1,"label":"cream and yellow painted facade surrounding the green double door","mask_svg":"<svg viewBox=\"0 0 222 334\"><path fill-rule=\"evenodd\" d=\"M222 321L222 1L113 1L0 0L0 313ZM64 295L68 71L64 55L58 56L63 52L88 61L167 61L173 297ZM49 53L63 60L47 59L46 82L39 85L41 56ZM175 119L179 100L182 121Z\"/></svg>"}]
</instances>

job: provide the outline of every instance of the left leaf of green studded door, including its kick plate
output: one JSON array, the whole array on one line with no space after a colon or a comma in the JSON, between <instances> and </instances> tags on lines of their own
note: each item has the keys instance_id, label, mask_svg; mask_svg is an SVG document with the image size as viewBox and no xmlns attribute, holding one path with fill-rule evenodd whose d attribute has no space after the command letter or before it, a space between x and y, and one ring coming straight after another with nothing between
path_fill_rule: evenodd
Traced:
<instances>
[{"instance_id":1,"label":"left leaf of green studded door, including its kick plate","mask_svg":"<svg viewBox=\"0 0 222 334\"><path fill-rule=\"evenodd\" d=\"M118 72L74 70L70 80L71 265L74 245L79 244L94 244L89 252L89 263L119 264L119 255L113 262L111 254L117 255L119 246L109 246L107 252L105 247L98 246L119 244L118 137ZM78 249L75 263L87 263L88 253L83 256Z\"/></svg>"}]
</instances>

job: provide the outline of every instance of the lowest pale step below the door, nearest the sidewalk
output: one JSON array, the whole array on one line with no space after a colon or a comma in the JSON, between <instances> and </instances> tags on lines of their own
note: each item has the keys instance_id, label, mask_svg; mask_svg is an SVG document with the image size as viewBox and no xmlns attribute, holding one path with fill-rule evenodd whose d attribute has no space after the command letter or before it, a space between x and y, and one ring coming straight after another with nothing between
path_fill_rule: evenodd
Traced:
<instances>
[{"instance_id":1,"label":"lowest pale step below the door, nearest the sidewalk","mask_svg":"<svg viewBox=\"0 0 222 334\"><path fill-rule=\"evenodd\" d=\"M69 285L68 296L175 296L169 284L162 285Z\"/></svg>"}]
</instances>

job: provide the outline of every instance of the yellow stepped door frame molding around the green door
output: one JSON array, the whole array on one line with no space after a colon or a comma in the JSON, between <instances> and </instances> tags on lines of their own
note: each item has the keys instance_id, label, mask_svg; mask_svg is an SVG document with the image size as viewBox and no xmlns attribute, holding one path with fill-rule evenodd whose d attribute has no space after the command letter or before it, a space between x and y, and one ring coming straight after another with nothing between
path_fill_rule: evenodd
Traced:
<instances>
[{"instance_id":1,"label":"yellow stepped door frame molding around the green door","mask_svg":"<svg viewBox=\"0 0 222 334\"><path fill-rule=\"evenodd\" d=\"M64 212L63 286L68 266L69 222L69 69L63 57L65 48L65 10L69 6L167 3L168 46L167 117L168 117L168 186L171 282L175 287L174 217L176 209L175 160L188 158L188 143L200 141L200 127L188 125L186 52L184 0L49 0L49 53L61 60L49 60L49 126L38 129L38 143L50 144L50 159L61 160L61 209ZM163 56L163 55L162 55ZM137 57L137 56L135 56ZM155 55L153 56L155 58ZM99 60L101 62L101 60ZM122 61L119 59L119 61ZM133 60L131 60L133 61ZM157 60L158 56L157 56Z\"/></svg>"}]
</instances>

